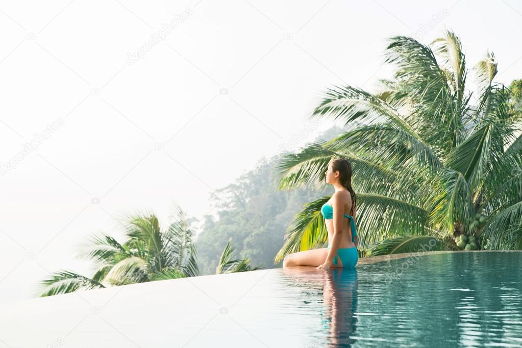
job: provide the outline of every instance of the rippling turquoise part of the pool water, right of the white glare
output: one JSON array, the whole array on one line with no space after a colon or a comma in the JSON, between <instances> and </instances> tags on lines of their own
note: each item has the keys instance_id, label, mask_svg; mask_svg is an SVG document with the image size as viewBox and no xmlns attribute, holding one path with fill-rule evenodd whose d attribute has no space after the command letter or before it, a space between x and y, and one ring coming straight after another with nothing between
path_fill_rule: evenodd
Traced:
<instances>
[{"instance_id":1,"label":"rippling turquoise part of the pool water, right of the white glare","mask_svg":"<svg viewBox=\"0 0 522 348\"><path fill-rule=\"evenodd\" d=\"M320 325L303 347L522 347L522 253L424 255L306 278L301 309Z\"/></svg>"}]
</instances>

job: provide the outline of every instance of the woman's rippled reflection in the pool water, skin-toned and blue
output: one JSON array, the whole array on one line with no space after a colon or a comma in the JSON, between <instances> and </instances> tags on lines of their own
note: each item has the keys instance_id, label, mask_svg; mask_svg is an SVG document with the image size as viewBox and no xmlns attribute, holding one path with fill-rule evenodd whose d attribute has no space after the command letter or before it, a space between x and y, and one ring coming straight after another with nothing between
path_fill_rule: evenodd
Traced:
<instances>
[{"instance_id":1,"label":"woman's rippled reflection in the pool water, skin-toned and blue","mask_svg":"<svg viewBox=\"0 0 522 348\"><path fill-rule=\"evenodd\" d=\"M328 343L336 347L349 347L355 342L357 318L357 268L332 269L326 272L323 316Z\"/></svg>"}]
</instances>

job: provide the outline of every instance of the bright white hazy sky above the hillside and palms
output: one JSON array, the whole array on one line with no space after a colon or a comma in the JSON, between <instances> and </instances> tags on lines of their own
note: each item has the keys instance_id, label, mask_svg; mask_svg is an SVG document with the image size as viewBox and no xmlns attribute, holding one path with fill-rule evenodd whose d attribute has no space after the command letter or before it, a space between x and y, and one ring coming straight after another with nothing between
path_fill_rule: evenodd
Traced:
<instances>
[{"instance_id":1,"label":"bright white hazy sky above the hillside and palms","mask_svg":"<svg viewBox=\"0 0 522 348\"><path fill-rule=\"evenodd\" d=\"M509 83L521 27L514 0L0 2L0 163L62 123L0 176L0 303L48 272L88 272L76 250L115 217L165 222L172 201L203 217L213 190L332 125L304 130L325 88L387 77L387 37L453 29L469 66L492 50Z\"/></svg>"}]
</instances>

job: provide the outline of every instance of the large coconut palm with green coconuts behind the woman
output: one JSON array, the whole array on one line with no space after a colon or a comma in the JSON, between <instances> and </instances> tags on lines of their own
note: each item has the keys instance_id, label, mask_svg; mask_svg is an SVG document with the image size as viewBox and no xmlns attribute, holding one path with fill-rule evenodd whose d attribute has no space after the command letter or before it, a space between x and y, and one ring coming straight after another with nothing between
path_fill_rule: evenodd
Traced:
<instances>
[{"instance_id":1,"label":"large coconut palm with green coconuts behind the woman","mask_svg":"<svg viewBox=\"0 0 522 348\"><path fill-rule=\"evenodd\" d=\"M379 93L327 89L309 117L339 119L348 131L284 155L276 166L279 188L324 188L330 159L348 159L362 256L418 251L426 244L456 250L463 246L456 242L467 239L461 234L477 239L468 249L520 249L521 117L507 112L511 92L493 81L493 53L468 71L460 39L446 31L431 45L388 39L385 62L395 73L380 81ZM476 91L466 89L468 74ZM325 246L319 209L328 199L295 215L276 263Z\"/></svg>"}]
</instances>

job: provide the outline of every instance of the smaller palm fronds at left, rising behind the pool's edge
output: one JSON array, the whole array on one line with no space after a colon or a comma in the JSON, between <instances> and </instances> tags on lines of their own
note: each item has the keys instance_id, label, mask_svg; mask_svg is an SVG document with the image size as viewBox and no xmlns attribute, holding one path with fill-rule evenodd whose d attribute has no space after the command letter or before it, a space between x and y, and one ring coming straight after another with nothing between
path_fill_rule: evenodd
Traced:
<instances>
[{"instance_id":1,"label":"smaller palm fronds at left, rising behind the pool's edge","mask_svg":"<svg viewBox=\"0 0 522 348\"><path fill-rule=\"evenodd\" d=\"M192 231L179 206L175 205L167 229L162 230L153 214L137 214L124 225L126 241L110 235L91 236L79 254L92 260L92 277L58 271L40 282L41 297L147 281L195 277L199 274Z\"/></svg>"}]
</instances>

